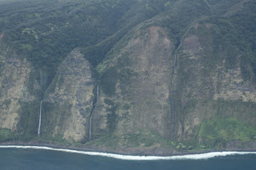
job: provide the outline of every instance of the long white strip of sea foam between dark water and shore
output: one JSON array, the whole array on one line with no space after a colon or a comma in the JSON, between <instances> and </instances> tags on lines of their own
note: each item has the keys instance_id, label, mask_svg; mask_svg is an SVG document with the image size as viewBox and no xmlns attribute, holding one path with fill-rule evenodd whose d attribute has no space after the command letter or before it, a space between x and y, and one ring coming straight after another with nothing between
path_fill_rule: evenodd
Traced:
<instances>
[{"instance_id":1,"label":"long white strip of sea foam between dark water and shore","mask_svg":"<svg viewBox=\"0 0 256 170\"><path fill-rule=\"evenodd\" d=\"M246 154L256 154L256 152L208 152L199 154L190 154L182 156L130 156L130 155L120 155L114 153L106 152L86 152L78 151L66 148L50 148L45 146L19 146L19 145L0 145L0 148L33 148L33 149L44 149L58 152L72 152L79 153L89 156L106 156L110 158L115 158L119 160L206 160L209 158L217 156L230 156L230 155L246 155Z\"/></svg>"}]
</instances>

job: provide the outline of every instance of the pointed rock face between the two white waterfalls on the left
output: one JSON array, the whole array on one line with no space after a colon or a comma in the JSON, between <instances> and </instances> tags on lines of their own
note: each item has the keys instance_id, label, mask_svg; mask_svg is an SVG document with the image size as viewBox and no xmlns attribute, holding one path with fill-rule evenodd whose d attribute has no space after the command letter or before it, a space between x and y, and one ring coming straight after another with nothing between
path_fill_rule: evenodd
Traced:
<instances>
[{"instance_id":1,"label":"pointed rock face between the two white waterfalls on the left","mask_svg":"<svg viewBox=\"0 0 256 170\"><path fill-rule=\"evenodd\" d=\"M59 66L46 91L42 111L42 133L63 136L69 141L87 138L94 99L90 65L74 49Z\"/></svg>"}]
</instances>

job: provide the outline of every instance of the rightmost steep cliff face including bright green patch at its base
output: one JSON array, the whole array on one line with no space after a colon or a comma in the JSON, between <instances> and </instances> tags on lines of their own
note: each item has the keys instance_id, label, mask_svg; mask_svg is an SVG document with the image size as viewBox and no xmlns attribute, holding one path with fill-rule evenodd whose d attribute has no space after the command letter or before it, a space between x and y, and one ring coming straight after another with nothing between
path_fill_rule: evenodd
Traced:
<instances>
[{"instance_id":1,"label":"rightmost steep cliff face including bright green patch at its base","mask_svg":"<svg viewBox=\"0 0 256 170\"><path fill-rule=\"evenodd\" d=\"M218 143L216 138L225 143L227 138L249 141L255 136L253 69L250 65L246 68L249 79L242 76L242 51L218 38L216 27L206 21L195 24L178 50L175 89L179 140L198 139L202 144L214 145ZM221 43L214 44L217 41ZM206 129L210 127L212 132Z\"/></svg>"}]
</instances>

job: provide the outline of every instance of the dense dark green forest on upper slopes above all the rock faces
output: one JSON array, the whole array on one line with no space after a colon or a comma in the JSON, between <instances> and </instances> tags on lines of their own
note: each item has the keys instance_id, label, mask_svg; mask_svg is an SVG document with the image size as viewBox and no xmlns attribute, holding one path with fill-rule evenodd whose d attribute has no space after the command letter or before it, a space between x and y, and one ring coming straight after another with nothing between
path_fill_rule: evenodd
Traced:
<instances>
[{"instance_id":1,"label":"dense dark green forest on upper slopes above all the rock faces","mask_svg":"<svg viewBox=\"0 0 256 170\"><path fill-rule=\"evenodd\" d=\"M214 35L216 40L222 42L224 38L238 48L243 48L245 51L243 56L246 58L243 61L256 65L253 10L255 2L249 1L245 4L239 2L239 6L238 2L238 0L229 2L197 0L189 3L177 0L4 1L1 2L0 33L4 34L2 42L16 49L19 55L26 56L35 67L45 73L46 76L43 78L46 80L42 85L45 87L50 85L58 65L67 53L76 47L82 47L86 59L95 67L107 55L112 55L110 50L114 45L138 24L141 27L157 25L166 28L170 38L178 46L190 24L206 16L212 16L210 22L213 24L216 18L222 20L222 23L215 22L218 30L222 31L222 33L217 31ZM229 18L223 17L222 14L225 12L232 14L226 9L233 5L238 7L230 8L231 10L237 10L240 6L244 9L238 10ZM237 36L238 33L241 34L240 38ZM232 62L234 58L232 53L235 52L227 50L226 53L230 54L228 58L232 65L234 62ZM245 76L248 76L247 72L245 67L243 70Z\"/></svg>"}]
</instances>

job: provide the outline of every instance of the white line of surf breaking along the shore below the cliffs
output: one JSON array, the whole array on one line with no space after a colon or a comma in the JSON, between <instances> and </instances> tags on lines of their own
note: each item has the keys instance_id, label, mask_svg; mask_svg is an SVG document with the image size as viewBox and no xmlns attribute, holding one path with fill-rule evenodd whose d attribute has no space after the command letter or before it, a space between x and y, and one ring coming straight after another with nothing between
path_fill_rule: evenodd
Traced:
<instances>
[{"instance_id":1,"label":"white line of surf breaking along the shore below the cliffs","mask_svg":"<svg viewBox=\"0 0 256 170\"><path fill-rule=\"evenodd\" d=\"M24 148L24 149L42 149L56 152L70 152L78 153L87 156L104 156L118 160L206 160L218 156L231 156L231 155L246 155L256 154L255 150L233 150L233 151L205 151L205 152L186 152L179 154L172 154L169 156L158 156L158 155L130 155L121 154L115 152L101 152L96 149L90 148L71 148L53 146L54 144L0 144L0 148Z\"/></svg>"}]
</instances>

